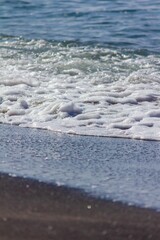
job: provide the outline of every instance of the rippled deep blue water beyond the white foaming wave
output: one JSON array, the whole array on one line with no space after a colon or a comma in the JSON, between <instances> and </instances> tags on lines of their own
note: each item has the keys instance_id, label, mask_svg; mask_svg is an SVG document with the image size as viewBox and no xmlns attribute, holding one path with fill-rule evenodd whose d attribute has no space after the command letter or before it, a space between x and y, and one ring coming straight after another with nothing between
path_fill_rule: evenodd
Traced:
<instances>
[{"instance_id":1,"label":"rippled deep blue water beyond the white foaming wave","mask_svg":"<svg viewBox=\"0 0 160 240\"><path fill-rule=\"evenodd\" d=\"M2 0L0 36L159 52L158 0Z\"/></svg>"}]
</instances>

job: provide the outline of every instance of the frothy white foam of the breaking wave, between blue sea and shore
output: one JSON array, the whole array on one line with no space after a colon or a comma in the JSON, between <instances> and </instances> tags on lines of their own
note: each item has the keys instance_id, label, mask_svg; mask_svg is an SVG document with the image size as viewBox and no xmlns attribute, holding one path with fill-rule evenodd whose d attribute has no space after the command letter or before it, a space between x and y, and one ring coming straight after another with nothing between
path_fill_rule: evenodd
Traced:
<instances>
[{"instance_id":1,"label":"frothy white foam of the breaking wave, between blue sea and shore","mask_svg":"<svg viewBox=\"0 0 160 240\"><path fill-rule=\"evenodd\" d=\"M160 140L159 62L106 48L1 41L0 122Z\"/></svg>"}]
</instances>

